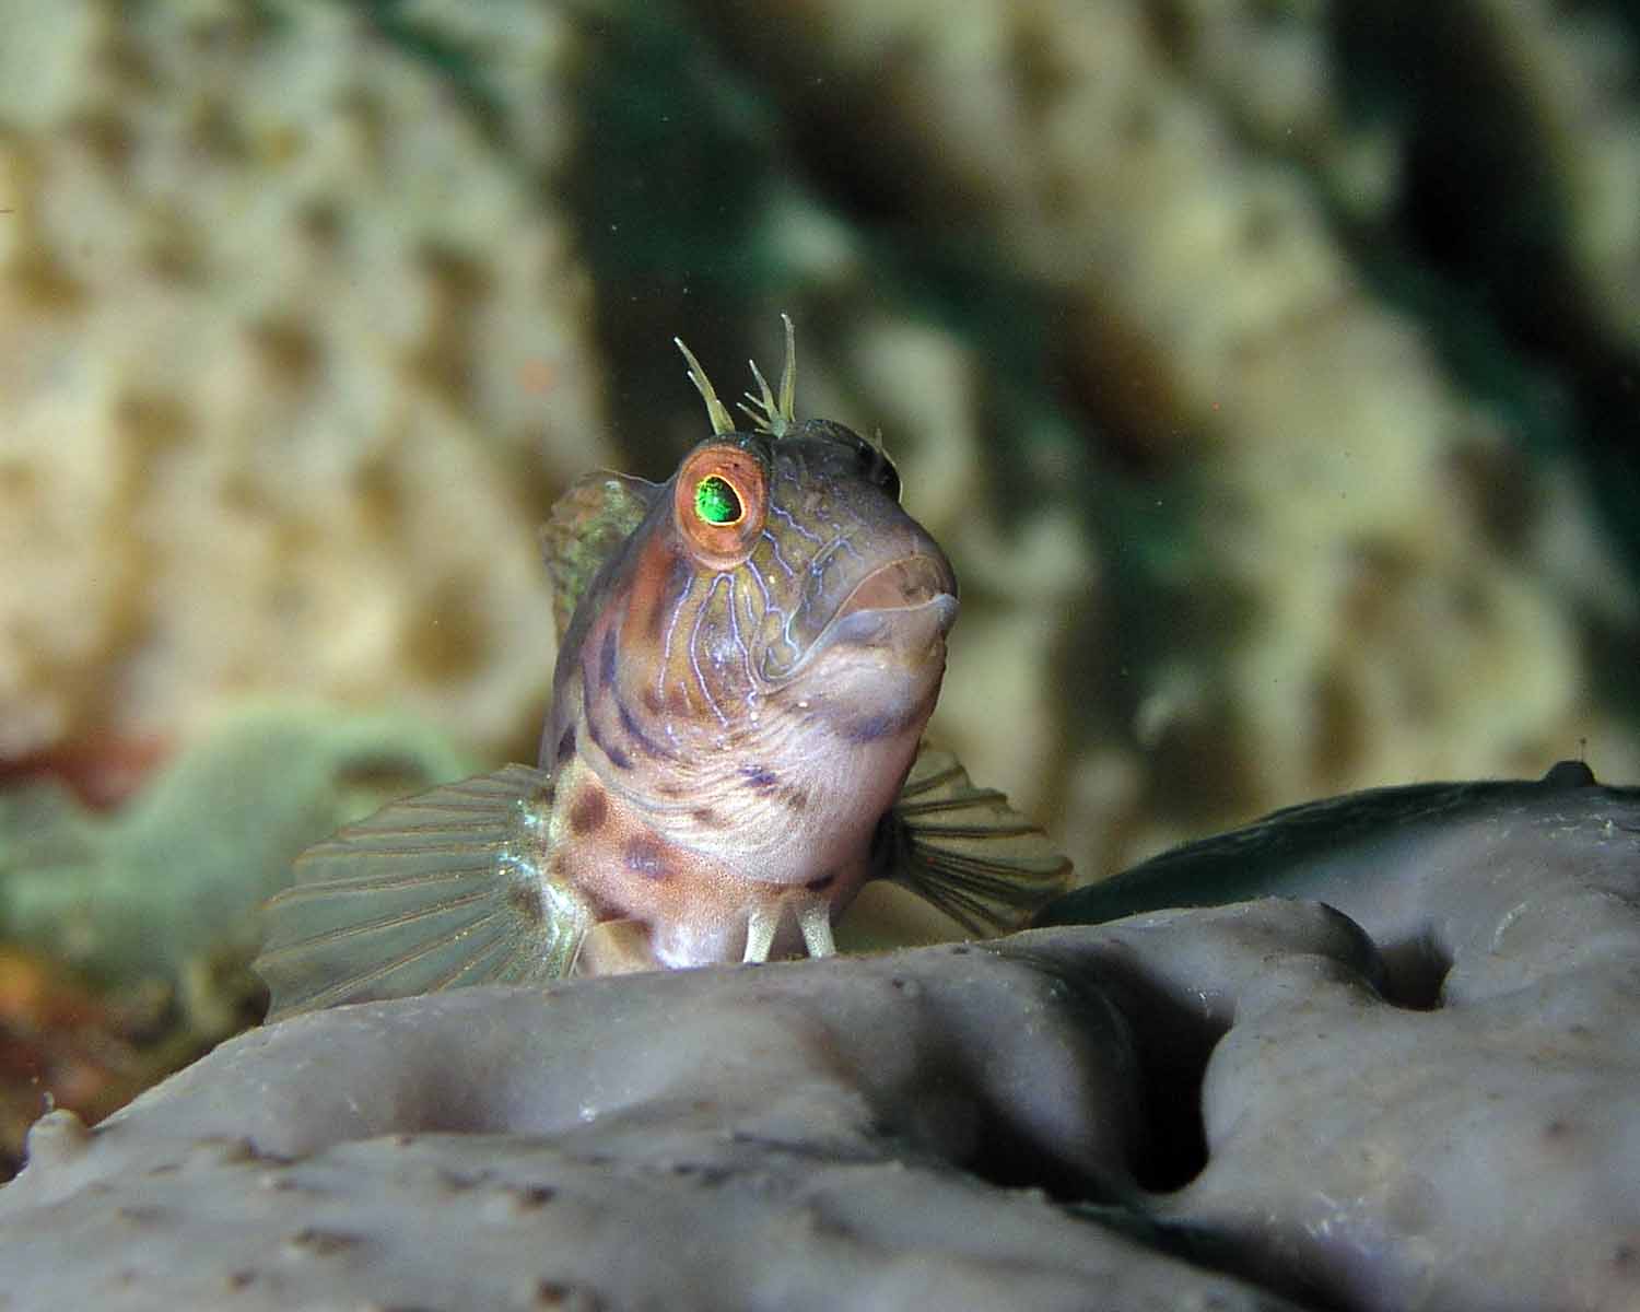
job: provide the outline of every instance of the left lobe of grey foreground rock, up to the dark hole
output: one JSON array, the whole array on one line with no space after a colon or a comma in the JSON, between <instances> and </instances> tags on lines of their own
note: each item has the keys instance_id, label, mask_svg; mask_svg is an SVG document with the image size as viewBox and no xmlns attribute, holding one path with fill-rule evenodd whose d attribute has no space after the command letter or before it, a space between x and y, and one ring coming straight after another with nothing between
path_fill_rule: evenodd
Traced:
<instances>
[{"instance_id":1,"label":"left lobe of grey foreground rock, up to the dark hole","mask_svg":"<svg viewBox=\"0 0 1640 1312\"><path fill-rule=\"evenodd\" d=\"M1289 1307L974 1173L1133 1192L1082 936L297 1017L44 1118L0 1305Z\"/></svg>"}]
</instances>

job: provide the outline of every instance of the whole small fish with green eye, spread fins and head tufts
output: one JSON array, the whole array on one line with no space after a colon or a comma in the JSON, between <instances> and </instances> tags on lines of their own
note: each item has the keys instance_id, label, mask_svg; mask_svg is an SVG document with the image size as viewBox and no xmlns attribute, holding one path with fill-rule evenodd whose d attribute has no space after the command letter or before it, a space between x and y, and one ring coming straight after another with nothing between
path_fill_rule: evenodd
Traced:
<instances>
[{"instance_id":1,"label":"whole small fish with green eye, spread fins and head tufts","mask_svg":"<svg viewBox=\"0 0 1640 1312\"><path fill-rule=\"evenodd\" d=\"M682 343L679 343L682 348ZM1069 863L922 746L956 620L881 449L799 421L787 366L664 484L597 472L543 531L559 656L538 768L394 804L297 863L271 1015L484 981L833 951L897 879L1020 923Z\"/></svg>"}]
</instances>

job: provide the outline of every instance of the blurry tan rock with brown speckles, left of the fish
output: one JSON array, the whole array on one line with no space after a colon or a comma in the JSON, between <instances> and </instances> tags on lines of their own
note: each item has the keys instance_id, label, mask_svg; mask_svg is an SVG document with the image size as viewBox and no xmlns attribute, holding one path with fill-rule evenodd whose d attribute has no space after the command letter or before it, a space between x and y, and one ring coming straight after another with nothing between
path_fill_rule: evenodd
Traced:
<instances>
[{"instance_id":1,"label":"blurry tan rock with brown speckles, left of the fish","mask_svg":"<svg viewBox=\"0 0 1640 1312\"><path fill-rule=\"evenodd\" d=\"M0 3L0 756L300 689L533 731L604 458L558 7Z\"/></svg>"}]
</instances>

